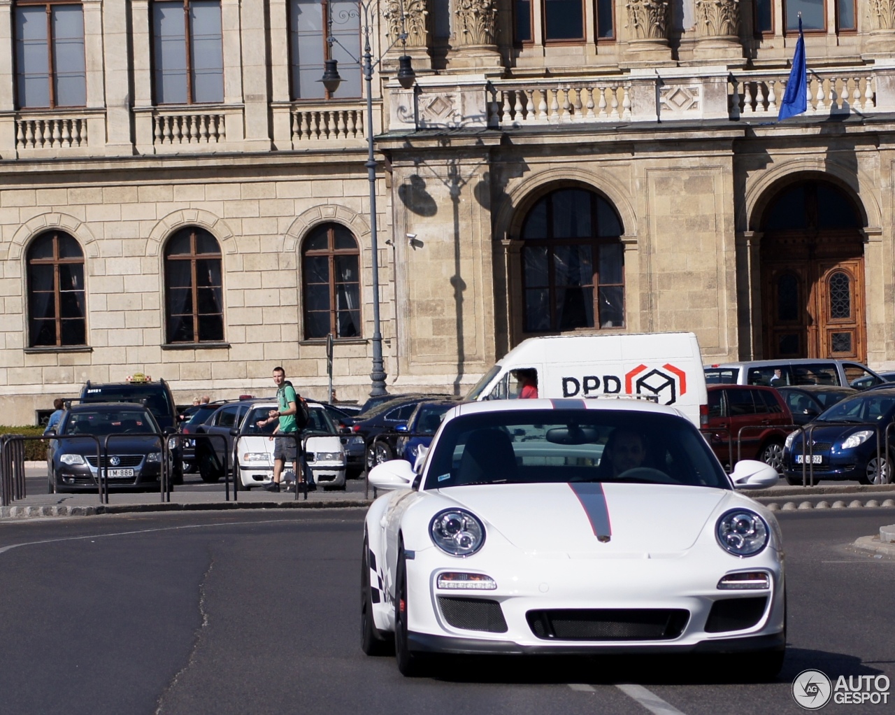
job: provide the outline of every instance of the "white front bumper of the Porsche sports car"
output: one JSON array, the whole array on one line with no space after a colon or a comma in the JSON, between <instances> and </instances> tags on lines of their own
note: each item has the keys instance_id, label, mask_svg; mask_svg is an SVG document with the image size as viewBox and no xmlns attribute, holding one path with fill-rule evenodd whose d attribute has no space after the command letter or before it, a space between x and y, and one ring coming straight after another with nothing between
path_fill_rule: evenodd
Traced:
<instances>
[{"instance_id":1,"label":"white front bumper of the Porsche sports car","mask_svg":"<svg viewBox=\"0 0 895 715\"><path fill-rule=\"evenodd\" d=\"M678 555L513 558L504 554L500 559L474 555L452 562L453 558L433 547L415 551L413 559L406 562L412 650L507 654L735 652L784 645L783 564L771 547L747 559L730 556L712 542ZM439 589L438 575L446 571L483 573L498 588ZM745 571L767 573L770 588L718 588L721 577ZM456 620L452 623L444 610L445 597L496 602L505 628L500 632L456 627ZM730 601L736 599L764 599L764 603L745 626L718 627L716 602L731 605ZM393 609L394 605L386 608ZM686 611L686 622L675 633L650 636L652 640L635 640L634 636L584 640L544 633L539 636L532 621L533 612L632 609ZM377 622L379 625L379 618Z\"/></svg>"}]
</instances>

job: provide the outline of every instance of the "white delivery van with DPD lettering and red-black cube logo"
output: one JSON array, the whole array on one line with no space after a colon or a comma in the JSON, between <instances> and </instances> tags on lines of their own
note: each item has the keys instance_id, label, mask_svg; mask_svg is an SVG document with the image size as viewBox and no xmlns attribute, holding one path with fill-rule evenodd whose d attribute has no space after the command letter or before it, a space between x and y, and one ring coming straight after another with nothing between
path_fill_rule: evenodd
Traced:
<instances>
[{"instance_id":1,"label":"white delivery van with DPD lettering and red-black cube logo","mask_svg":"<svg viewBox=\"0 0 895 715\"><path fill-rule=\"evenodd\" d=\"M499 360L466 400L517 399L532 378L538 397L639 395L676 407L697 427L708 417L703 358L692 332L529 338Z\"/></svg>"}]
</instances>

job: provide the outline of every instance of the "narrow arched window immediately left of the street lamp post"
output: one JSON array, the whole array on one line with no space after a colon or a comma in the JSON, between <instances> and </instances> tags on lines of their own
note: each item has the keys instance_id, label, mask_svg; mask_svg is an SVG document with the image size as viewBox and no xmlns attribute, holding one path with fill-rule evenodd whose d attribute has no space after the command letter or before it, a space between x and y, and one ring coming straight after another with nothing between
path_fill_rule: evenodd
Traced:
<instances>
[{"instance_id":1,"label":"narrow arched window immediately left of the street lamp post","mask_svg":"<svg viewBox=\"0 0 895 715\"><path fill-rule=\"evenodd\" d=\"M314 228L302 246L304 338L361 336L360 253L337 223Z\"/></svg>"}]
</instances>

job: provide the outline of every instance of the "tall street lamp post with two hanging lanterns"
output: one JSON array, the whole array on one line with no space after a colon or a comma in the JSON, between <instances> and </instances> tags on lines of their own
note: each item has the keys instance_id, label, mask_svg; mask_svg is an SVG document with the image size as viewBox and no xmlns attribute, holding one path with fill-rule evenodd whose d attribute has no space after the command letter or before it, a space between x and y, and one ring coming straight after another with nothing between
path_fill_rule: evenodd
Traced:
<instances>
[{"instance_id":1,"label":"tall street lamp post with two hanging lanterns","mask_svg":"<svg viewBox=\"0 0 895 715\"><path fill-rule=\"evenodd\" d=\"M370 373L371 385L372 389L370 391L371 397L379 397L380 395L388 394L386 391L386 371L385 365L382 361L382 332L380 331L379 325L379 243L377 236L377 221L376 221L376 159L373 157L373 69L379 65L382 61L382 57L379 57L375 62L373 62L373 53L371 47L371 34L374 30L373 23L371 22L371 8L376 5L376 0L358 0L357 10L348 10L343 11L347 16L351 17L361 17L362 16L362 33L363 33L363 55L361 59L358 59L347 50L347 48L342 45L338 41L338 39L333 35L332 32L332 4L328 3L328 17L327 17L327 43L330 49L334 44L338 44L339 47L345 51L345 53L352 57L355 62L361 65L361 70L363 73L363 79L366 84L366 94L367 94L367 161L364 166L367 168L367 179L370 182L370 246L373 252L372 254L372 279L373 279L373 369ZM357 13L357 14L354 14ZM404 14L401 15L401 25L402 31L398 38L392 43L391 47L394 47L396 42L400 41L402 44L407 39L407 33L403 30L404 27ZM388 49L391 49L388 47ZM388 52L388 49L386 50ZM396 74L396 79L398 84L401 85L405 90L409 90L413 87L413 82L416 81L416 75L413 73L413 66L411 65L410 57L407 55L402 55L398 57L398 69ZM323 86L326 88L329 94L334 94L338 89L339 83L342 82L342 78L338 73L338 62L334 59L327 59L324 62L324 72L323 77L320 79L320 82L323 82Z\"/></svg>"}]
</instances>

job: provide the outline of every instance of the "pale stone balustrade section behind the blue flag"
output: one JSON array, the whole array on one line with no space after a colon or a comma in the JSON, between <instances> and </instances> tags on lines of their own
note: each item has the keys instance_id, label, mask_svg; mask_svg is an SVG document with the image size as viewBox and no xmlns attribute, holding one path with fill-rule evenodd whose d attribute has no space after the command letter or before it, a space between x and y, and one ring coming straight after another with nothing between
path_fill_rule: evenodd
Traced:
<instances>
[{"instance_id":1,"label":"pale stone balustrade section behind the blue flag","mask_svg":"<svg viewBox=\"0 0 895 715\"><path fill-rule=\"evenodd\" d=\"M728 84L730 118L776 118L788 73L737 73ZM877 110L874 74L853 71L808 73L807 115L869 114Z\"/></svg>"}]
</instances>

